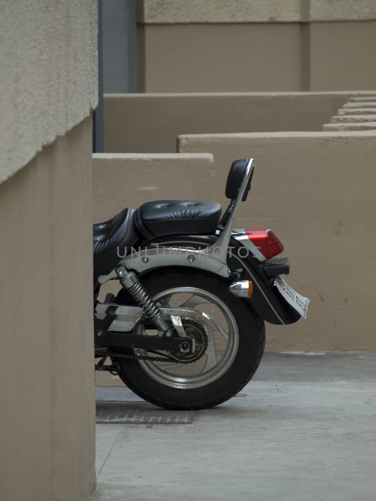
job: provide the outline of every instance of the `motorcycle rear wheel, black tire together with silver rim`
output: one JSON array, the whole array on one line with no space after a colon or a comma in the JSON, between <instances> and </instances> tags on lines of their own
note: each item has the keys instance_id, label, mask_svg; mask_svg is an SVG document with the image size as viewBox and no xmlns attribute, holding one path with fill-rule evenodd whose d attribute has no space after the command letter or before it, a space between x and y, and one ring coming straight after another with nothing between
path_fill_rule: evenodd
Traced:
<instances>
[{"instance_id":1,"label":"motorcycle rear wheel, black tire together with silver rim","mask_svg":"<svg viewBox=\"0 0 376 501\"><path fill-rule=\"evenodd\" d=\"M250 303L233 296L225 279L198 270L164 268L140 280L158 305L204 311L216 329L207 329L206 353L192 364L113 357L121 380L144 400L174 410L214 407L239 393L255 374L265 346L264 322ZM127 293L121 290L116 302L127 304Z\"/></svg>"}]
</instances>

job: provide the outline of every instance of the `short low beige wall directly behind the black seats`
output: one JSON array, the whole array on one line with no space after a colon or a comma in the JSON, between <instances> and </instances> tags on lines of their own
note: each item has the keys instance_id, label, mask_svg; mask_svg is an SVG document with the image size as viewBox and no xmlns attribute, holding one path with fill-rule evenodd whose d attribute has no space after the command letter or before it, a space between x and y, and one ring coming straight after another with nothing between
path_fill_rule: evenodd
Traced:
<instances>
[{"instance_id":1,"label":"short low beige wall directly behind the black seats","mask_svg":"<svg viewBox=\"0 0 376 501\"><path fill-rule=\"evenodd\" d=\"M150 200L214 199L211 154L93 154L93 221Z\"/></svg>"}]
</instances>

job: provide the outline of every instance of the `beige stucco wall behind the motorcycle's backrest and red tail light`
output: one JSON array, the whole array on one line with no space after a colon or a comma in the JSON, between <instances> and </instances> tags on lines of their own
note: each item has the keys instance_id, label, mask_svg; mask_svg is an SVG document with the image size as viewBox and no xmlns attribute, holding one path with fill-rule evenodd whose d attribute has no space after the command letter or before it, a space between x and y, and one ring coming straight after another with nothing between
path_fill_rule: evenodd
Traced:
<instances>
[{"instance_id":1,"label":"beige stucco wall behind the motorcycle's backrest and red tail light","mask_svg":"<svg viewBox=\"0 0 376 501\"><path fill-rule=\"evenodd\" d=\"M255 158L236 226L273 229L291 259L288 282L311 299L306 321L267 325L268 349L376 351L375 142L376 131L180 136L180 152L213 153L223 205L231 162Z\"/></svg>"}]
</instances>

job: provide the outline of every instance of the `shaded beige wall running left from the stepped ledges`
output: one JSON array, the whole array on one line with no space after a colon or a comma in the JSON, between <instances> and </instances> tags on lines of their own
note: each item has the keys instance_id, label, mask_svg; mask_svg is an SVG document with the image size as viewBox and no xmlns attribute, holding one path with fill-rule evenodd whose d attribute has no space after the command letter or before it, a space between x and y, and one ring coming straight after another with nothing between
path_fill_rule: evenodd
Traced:
<instances>
[{"instance_id":1,"label":"shaded beige wall running left from the stepped ledges","mask_svg":"<svg viewBox=\"0 0 376 501\"><path fill-rule=\"evenodd\" d=\"M319 131L338 108L356 95L366 94L107 94L105 151L174 152L176 136L187 133Z\"/></svg>"}]
</instances>

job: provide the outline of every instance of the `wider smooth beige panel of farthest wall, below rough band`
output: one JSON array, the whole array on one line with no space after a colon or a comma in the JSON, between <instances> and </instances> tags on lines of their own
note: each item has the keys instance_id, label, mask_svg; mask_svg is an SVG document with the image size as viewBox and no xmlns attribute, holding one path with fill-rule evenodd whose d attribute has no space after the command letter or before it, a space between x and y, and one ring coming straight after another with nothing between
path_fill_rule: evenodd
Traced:
<instances>
[{"instance_id":1,"label":"wider smooth beige panel of farthest wall, below rough band","mask_svg":"<svg viewBox=\"0 0 376 501\"><path fill-rule=\"evenodd\" d=\"M139 92L299 91L297 23L141 25Z\"/></svg>"}]
</instances>

